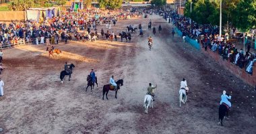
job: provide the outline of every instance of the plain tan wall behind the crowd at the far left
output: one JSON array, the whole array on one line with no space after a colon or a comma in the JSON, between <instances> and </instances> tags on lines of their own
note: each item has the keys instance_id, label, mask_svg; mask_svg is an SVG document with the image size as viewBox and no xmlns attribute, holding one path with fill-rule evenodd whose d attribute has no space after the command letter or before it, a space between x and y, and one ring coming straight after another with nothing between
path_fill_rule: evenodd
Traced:
<instances>
[{"instance_id":1,"label":"plain tan wall behind the crowd at the far left","mask_svg":"<svg viewBox=\"0 0 256 134\"><path fill-rule=\"evenodd\" d=\"M0 11L0 21L24 20L24 11Z\"/></svg>"}]
</instances>

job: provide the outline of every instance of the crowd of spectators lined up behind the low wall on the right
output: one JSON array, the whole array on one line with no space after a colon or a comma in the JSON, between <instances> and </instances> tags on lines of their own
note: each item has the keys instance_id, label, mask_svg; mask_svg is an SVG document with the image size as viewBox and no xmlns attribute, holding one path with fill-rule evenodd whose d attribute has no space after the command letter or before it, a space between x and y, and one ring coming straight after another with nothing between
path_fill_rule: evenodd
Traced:
<instances>
[{"instance_id":1,"label":"crowd of spectators lined up behind the low wall on the right","mask_svg":"<svg viewBox=\"0 0 256 134\"><path fill-rule=\"evenodd\" d=\"M249 74L253 74L253 64L256 62L256 55L250 52L251 45L247 44L247 51L238 48L231 42L228 34L219 38L219 27L212 25L199 25L186 17L179 17L174 11L158 11L169 23L172 22L186 36L196 40L205 51L207 49L222 56L223 60L228 60L240 68L245 68Z\"/></svg>"}]
</instances>

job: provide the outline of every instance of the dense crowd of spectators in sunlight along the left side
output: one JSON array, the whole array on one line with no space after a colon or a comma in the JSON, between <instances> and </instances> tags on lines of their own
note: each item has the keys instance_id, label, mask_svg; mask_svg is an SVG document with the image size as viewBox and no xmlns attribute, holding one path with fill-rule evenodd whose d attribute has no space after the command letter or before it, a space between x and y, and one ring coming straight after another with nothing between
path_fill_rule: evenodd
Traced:
<instances>
[{"instance_id":1,"label":"dense crowd of spectators in sunlight along the left side","mask_svg":"<svg viewBox=\"0 0 256 134\"><path fill-rule=\"evenodd\" d=\"M98 35L96 25L115 23L120 19L134 16L127 11L105 11L101 9L85 9L79 12L62 11L59 17L39 21L12 21L7 25L0 23L0 49L15 45L58 44L68 40L89 40ZM79 29L86 32L78 33ZM92 31L94 29L95 31Z\"/></svg>"}]
</instances>

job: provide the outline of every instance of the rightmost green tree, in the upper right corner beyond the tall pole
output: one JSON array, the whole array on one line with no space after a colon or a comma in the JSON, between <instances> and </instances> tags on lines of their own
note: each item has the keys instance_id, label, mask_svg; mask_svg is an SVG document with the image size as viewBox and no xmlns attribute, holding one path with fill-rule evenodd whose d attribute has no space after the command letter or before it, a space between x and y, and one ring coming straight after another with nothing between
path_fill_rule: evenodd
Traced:
<instances>
[{"instance_id":1,"label":"rightmost green tree, in the upper right corner beyond the tall pole","mask_svg":"<svg viewBox=\"0 0 256 134\"><path fill-rule=\"evenodd\" d=\"M249 31L256 28L256 0L241 0L232 17L233 24L240 31Z\"/></svg>"}]
</instances>

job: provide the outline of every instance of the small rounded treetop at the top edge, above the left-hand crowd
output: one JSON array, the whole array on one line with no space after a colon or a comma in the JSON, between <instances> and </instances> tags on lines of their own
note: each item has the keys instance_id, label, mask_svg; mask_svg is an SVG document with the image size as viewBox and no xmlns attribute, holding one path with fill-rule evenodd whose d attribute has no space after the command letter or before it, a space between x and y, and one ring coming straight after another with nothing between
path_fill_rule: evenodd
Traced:
<instances>
[{"instance_id":1,"label":"small rounded treetop at the top edge, above the left-hand crowd","mask_svg":"<svg viewBox=\"0 0 256 134\"><path fill-rule=\"evenodd\" d=\"M123 0L99 0L100 8L117 9L121 7Z\"/></svg>"}]
</instances>

